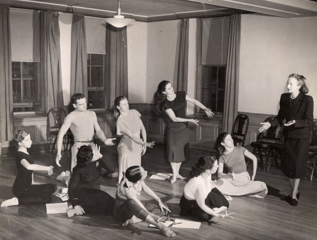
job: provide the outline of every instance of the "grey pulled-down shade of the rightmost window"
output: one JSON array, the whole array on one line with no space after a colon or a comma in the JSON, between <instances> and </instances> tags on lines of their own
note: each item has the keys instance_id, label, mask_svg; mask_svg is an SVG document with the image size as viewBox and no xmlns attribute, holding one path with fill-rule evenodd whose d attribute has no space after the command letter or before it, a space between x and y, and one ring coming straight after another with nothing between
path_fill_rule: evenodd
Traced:
<instances>
[{"instance_id":1,"label":"grey pulled-down shade of the rightmost window","mask_svg":"<svg viewBox=\"0 0 317 240\"><path fill-rule=\"evenodd\" d=\"M203 20L202 65L225 65L227 62L230 18Z\"/></svg>"}]
</instances>

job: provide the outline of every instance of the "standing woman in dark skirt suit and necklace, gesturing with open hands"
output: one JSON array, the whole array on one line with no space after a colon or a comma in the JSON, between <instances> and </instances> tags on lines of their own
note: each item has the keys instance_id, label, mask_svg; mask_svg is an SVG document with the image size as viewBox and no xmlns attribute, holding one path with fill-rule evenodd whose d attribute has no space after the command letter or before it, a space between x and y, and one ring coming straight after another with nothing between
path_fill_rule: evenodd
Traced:
<instances>
[{"instance_id":1,"label":"standing woman in dark skirt suit and necklace, gesturing with open hands","mask_svg":"<svg viewBox=\"0 0 317 240\"><path fill-rule=\"evenodd\" d=\"M274 120L261 123L259 132L270 126L276 126L284 119L286 126L285 151L288 163L285 174L290 178L292 193L285 200L290 205L297 206L300 194L298 185L300 179L305 177L309 152L309 127L314 119L314 101L308 93L306 78L293 73L287 80L288 93L283 93L280 99L280 110Z\"/></svg>"}]
</instances>

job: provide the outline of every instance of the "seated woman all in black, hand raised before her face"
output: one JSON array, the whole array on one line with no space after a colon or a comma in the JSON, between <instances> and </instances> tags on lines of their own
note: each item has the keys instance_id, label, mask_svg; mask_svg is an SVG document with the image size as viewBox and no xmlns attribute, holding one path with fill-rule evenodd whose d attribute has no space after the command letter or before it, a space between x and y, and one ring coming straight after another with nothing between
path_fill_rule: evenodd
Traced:
<instances>
[{"instance_id":1,"label":"seated woman all in black, hand raised before her face","mask_svg":"<svg viewBox=\"0 0 317 240\"><path fill-rule=\"evenodd\" d=\"M115 172L114 165L102 158L100 147L81 146L68 187L68 196L72 203L67 208L69 218L85 212L112 216L114 198L100 190L101 168L108 173Z\"/></svg>"}]
</instances>

